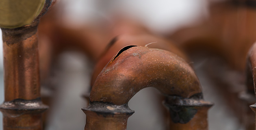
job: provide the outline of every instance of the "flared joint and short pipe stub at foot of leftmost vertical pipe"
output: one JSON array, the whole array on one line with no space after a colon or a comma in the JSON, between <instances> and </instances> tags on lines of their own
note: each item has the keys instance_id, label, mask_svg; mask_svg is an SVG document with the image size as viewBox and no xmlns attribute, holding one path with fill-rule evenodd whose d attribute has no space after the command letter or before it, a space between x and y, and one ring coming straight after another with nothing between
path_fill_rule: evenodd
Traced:
<instances>
[{"instance_id":1,"label":"flared joint and short pipe stub at foot of leftmost vertical pipe","mask_svg":"<svg viewBox=\"0 0 256 130\"><path fill-rule=\"evenodd\" d=\"M42 130L41 113L47 108L40 98L4 102L0 105L4 117L3 130Z\"/></svg>"}]
</instances>

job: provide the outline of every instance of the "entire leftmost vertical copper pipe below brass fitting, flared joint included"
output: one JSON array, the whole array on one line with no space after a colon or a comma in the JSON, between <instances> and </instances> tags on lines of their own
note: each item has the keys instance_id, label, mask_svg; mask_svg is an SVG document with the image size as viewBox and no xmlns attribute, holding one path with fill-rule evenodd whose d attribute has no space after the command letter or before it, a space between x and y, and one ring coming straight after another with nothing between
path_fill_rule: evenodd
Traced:
<instances>
[{"instance_id":1,"label":"entire leftmost vertical copper pipe below brass fitting, flared joint included","mask_svg":"<svg viewBox=\"0 0 256 130\"><path fill-rule=\"evenodd\" d=\"M46 0L36 20L19 28L1 28L4 52L3 130L42 130L37 25L52 0Z\"/></svg>"}]
</instances>

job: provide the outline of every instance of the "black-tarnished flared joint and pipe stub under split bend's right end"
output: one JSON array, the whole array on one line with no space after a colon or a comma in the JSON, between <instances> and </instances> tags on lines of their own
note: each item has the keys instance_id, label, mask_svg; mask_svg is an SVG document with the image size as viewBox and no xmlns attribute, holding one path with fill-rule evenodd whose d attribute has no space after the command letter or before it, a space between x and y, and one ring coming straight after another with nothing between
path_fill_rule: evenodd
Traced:
<instances>
[{"instance_id":1,"label":"black-tarnished flared joint and pipe stub under split bend's right end","mask_svg":"<svg viewBox=\"0 0 256 130\"><path fill-rule=\"evenodd\" d=\"M189 99L168 96L165 106L169 108L169 130L208 130L208 109L213 104L203 100L202 95Z\"/></svg>"}]
</instances>

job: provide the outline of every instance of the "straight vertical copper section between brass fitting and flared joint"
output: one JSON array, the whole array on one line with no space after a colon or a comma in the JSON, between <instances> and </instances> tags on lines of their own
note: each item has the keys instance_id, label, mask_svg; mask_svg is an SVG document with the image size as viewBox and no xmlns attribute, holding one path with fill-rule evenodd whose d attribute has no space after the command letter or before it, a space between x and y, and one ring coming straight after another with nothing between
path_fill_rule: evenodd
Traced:
<instances>
[{"instance_id":1,"label":"straight vertical copper section between brass fitting and flared joint","mask_svg":"<svg viewBox=\"0 0 256 130\"><path fill-rule=\"evenodd\" d=\"M2 28L5 102L40 97L37 24Z\"/></svg>"}]
</instances>

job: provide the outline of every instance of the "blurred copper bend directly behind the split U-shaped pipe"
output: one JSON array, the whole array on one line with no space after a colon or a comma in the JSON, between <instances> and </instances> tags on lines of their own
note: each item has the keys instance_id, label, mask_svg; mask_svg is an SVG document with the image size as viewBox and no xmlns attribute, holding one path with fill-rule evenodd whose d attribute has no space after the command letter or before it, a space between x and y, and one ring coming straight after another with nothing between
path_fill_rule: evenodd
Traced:
<instances>
[{"instance_id":1,"label":"blurred copper bend directly behind the split U-shaped pipe","mask_svg":"<svg viewBox=\"0 0 256 130\"><path fill-rule=\"evenodd\" d=\"M138 34L125 33L123 35L118 35L117 37L113 38L111 42L108 43L105 52L102 52L102 56L96 63L92 74L91 87L93 86L97 76L100 74L102 69L107 65L108 61L111 60L113 55L115 55L124 46L130 45L130 43L136 43L136 45L141 46L152 43L148 45L148 47L173 52L178 56L184 58L186 61L189 61L187 56L170 40L152 35L148 32L140 32ZM86 95L85 97L89 98L89 92Z\"/></svg>"}]
</instances>

